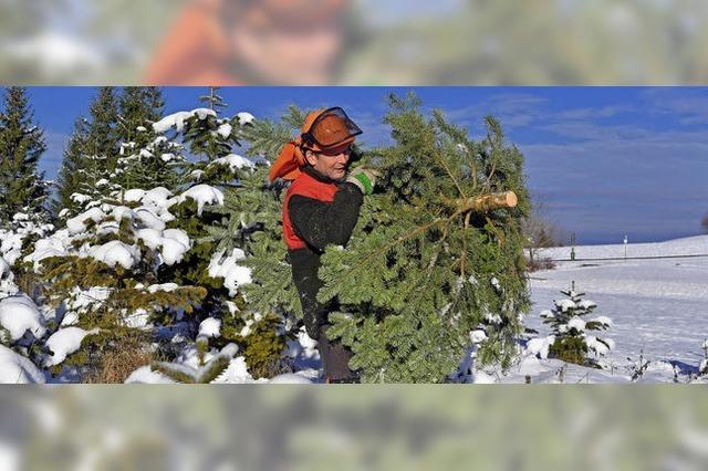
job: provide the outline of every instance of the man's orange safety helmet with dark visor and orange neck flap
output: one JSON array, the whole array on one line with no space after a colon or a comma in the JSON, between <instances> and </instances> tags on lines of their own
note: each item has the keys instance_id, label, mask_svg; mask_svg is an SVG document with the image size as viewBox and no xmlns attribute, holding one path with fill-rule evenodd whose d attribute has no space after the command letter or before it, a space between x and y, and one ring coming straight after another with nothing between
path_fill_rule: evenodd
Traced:
<instances>
[{"instance_id":1,"label":"man's orange safety helmet with dark visor and orange neck flap","mask_svg":"<svg viewBox=\"0 0 708 471\"><path fill-rule=\"evenodd\" d=\"M326 151L352 144L363 130L339 106L316 109L305 116L300 136L285 144L268 174L270 181L277 178L294 180L306 165L303 150Z\"/></svg>"}]
</instances>

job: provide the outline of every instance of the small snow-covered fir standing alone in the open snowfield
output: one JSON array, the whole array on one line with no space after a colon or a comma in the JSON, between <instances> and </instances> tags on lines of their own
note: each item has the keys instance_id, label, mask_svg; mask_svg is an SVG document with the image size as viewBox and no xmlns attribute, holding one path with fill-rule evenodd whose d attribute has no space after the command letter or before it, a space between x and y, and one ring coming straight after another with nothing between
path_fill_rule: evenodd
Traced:
<instances>
[{"instance_id":1,"label":"small snow-covered fir standing alone in the open snowfield","mask_svg":"<svg viewBox=\"0 0 708 471\"><path fill-rule=\"evenodd\" d=\"M575 282L561 294L565 297L554 300L553 310L541 312L543 323L552 332L549 337L535 341L542 345L539 354L579 365L596 365L597 357L607 355L614 348L614 341L591 333L610 328L612 320L604 315L591 317L597 305L591 300L583 300L585 293L575 291ZM589 354L593 356L589 357Z\"/></svg>"}]
</instances>

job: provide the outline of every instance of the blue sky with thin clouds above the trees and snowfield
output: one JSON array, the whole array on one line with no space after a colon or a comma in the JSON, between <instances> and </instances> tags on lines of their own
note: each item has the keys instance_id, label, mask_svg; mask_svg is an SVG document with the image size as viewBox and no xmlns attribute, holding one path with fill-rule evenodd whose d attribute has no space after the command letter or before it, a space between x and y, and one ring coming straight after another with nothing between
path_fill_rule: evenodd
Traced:
<instances>
[{"instance_id":1,"label":"blue sky with thin clouds above the trees and snowfield","mask_svg":"<svg viewBox=\"0 0 708 471\"><path fill-rule=\"evenodd\" d=\"M280 116L288 104L341 105L364 129L366 145L387 144L381 123L389 93L414 90L471 136L498 116L524 154L532 193L549 219L579 243L657 241L700 233L708 211L707 87L233 87L227 113ZM165 88L166 113L199 106L204 87ZM92 87L30 88L53 178L74 119Z\"/></svg>"}]
</instances>

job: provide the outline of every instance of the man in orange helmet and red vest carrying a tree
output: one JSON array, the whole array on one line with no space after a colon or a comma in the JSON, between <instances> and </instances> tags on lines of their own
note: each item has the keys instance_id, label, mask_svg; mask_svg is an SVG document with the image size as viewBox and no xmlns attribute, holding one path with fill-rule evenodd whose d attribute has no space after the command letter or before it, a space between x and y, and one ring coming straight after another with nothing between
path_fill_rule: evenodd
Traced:
<instances>
[{"instance_id":1,"label":"man in orange helmet and red vest carrying a tree","mask_svg":"<svg viewBox=\"0 0 708 471\"><path fill-rule=\"evenodd\" d=\"M293 180L283 203L283 236L300 294L308 335L319 342L327 383L355 383L352 352L326 336L333 306L317 302L320 255L330 245L346 245L364 195L377 172L357 168L347 176L352 144L362 129L340 107L308 114L302 134L288 143L270 170L270 180Z\"/></svg>"}]
</instances>

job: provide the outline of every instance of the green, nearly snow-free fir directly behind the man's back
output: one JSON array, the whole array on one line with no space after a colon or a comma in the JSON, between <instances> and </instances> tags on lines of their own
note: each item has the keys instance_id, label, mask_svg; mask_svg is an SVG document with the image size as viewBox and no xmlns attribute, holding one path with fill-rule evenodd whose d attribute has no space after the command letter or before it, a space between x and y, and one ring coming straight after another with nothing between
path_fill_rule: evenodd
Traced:
<instances>
[{"instance_id":1,"label":"green, nearly snow-free fir directly behind the man's back","mask_svg":"<svg viewBox=\"0 0 708 471\"><path fill-rule=\"evenodd\" d=\"M285 335L294 337L301 308L282 239L284 186L282 182L271 186L268 170L304 116L290 107L280 123L253 121L244 113L239 114L239 119L248 123L241 127L241 135L249 143L246 155L253 167L241 176L238 185L226 188L223 206L215 208L221 218L208 228L208 240L217 251L212 268L227 268L229 260L236 259L249 270L252 283L242 286L248 302L241 311L248 327L244 342L248 368L254 377L272 376L287 368ZM232 272L231 276L236 274ZM228 276L225 282L233 285Z\"/></svg>"}]
</instances>

